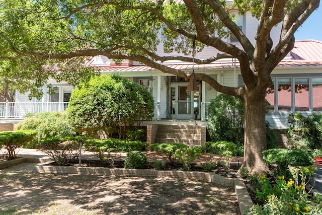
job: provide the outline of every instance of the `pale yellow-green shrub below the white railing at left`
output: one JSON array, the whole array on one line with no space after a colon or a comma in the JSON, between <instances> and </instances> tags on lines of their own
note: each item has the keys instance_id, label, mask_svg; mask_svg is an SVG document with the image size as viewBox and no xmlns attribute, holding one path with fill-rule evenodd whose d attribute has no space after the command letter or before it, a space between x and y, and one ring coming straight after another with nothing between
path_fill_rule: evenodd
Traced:
<instances>
[{"instance_id":1,"label":"pale yellow-green shrub below the white railing at left","mask_svg":"<svg viewBox=\"0 0 322 215\"><path fill-rule=\"evenodd\" d=\"M73 136L76 133L67 122L65 112L41 112L28 114L18 125L18 130L30 129L37 132L37 139L54 136ZM33 148L33 146L30 146Z\"/></svg>"}]
</instances>

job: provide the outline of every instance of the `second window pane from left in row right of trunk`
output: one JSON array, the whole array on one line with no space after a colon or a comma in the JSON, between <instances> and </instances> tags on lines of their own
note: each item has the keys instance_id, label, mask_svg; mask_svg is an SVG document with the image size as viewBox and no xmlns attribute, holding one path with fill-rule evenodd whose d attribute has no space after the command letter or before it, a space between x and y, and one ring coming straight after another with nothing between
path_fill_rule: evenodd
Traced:
<instances>
[{"instance_id":1,"label":"second window pane from left in row right of trunk","mask_svg":"<svg viewBox=\"0 0 322 215\"><path fill-rule=\"evenodd\" d=\"M292 110L292 79L277 79L278 110Z\"/></svg>"}]
</instances>

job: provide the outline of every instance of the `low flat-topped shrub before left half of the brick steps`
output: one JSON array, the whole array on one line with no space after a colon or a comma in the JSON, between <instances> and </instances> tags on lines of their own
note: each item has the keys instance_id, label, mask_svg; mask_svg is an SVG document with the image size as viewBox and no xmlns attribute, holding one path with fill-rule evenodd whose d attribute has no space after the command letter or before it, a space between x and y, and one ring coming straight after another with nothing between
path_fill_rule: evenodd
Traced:
<instances>
[{"instance_id":1,"label":"low flat-topped shrub before left half of the brick steps","mask_svg":"<svg viewBox=\"0 0 322 215\"><path fill-rule=\"evenodd\" d=\"M185 144L177 144L177 143L172 143L172 144L151 144L150 147L155 152L165 154L166 159L168 159L169 162L172 162L172 163L177 163L176 157L174 156L176 150L188 148L188 146L185 145Z\"/></svg>"}]
</instances>

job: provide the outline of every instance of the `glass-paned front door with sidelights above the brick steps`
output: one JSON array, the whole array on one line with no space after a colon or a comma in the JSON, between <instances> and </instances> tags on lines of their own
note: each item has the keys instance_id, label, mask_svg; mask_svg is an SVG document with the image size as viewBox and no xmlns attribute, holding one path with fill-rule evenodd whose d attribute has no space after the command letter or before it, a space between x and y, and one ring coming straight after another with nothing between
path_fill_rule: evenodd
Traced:
<instances>
[{"instance_id":1,"label":"glass-paned front door with sidelights above the brick steps","mask_svg":"<svg viewBox=\"0 0 322 215\"><path fill-rule=\"evenodd\" d=\"M172 119L195 119L199 113L199 92L187 92L188 83L171 85Z\"/></svg>"}]
</instances>

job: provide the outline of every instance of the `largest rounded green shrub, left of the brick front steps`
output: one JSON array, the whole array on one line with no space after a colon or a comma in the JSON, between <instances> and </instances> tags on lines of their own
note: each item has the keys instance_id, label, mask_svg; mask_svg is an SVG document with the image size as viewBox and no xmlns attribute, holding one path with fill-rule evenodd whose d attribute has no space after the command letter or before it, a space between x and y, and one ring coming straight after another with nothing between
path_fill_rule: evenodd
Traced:
<instances>
[{"instance_id":1,"label":"largest rounded green shrub, left of the brick front steps","mask_svg":"<svg viewBox=\"0 0 322 215\"><path fill-rule=\"evenodd\" d=\"M154 111L150 92L117 75L101 75L75 89L67 108L70 124L80 133L110 137L151 119ZM120 115L121 114L121 115Z\"/></svg>"}]
</instances>

